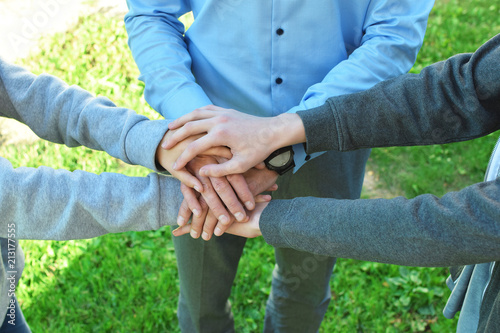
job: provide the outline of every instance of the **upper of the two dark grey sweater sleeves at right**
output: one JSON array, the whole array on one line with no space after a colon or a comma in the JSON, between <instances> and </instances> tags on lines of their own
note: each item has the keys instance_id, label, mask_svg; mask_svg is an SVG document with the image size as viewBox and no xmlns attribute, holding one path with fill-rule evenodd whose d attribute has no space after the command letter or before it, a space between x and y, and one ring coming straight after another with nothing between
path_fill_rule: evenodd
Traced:
<instances>
[{"instance_id":1,"label":"upper of the two dark grey sweater sleeves at right","mask_svg":"<svg viewBox=\"0 0 500 333\"><path fill-rule=\"evenodd\" d=\"M500 35L461 54L299 111L307 152L457 142L500 129Z\"/></svg>"}]
</instances>

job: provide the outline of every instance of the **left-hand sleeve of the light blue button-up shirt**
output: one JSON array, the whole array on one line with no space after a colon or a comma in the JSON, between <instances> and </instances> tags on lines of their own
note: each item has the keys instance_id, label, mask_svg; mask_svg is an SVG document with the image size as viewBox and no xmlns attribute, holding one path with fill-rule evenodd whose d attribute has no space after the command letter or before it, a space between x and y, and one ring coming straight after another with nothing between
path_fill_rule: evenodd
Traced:
<instances>
[{"instance_id":1,"label":"left-hand sleeve of the light blue button-up shirt","mask_svg":"<svg viewBox=\"0 0 500 333\"><path fill-rule=\"evenodd\" d=\"M178 20L188 1L127 0L128 44L146 84L146 101L165 118L176 119L212 104L191 72L191 56Z\"/></svg>"}]
</instances>

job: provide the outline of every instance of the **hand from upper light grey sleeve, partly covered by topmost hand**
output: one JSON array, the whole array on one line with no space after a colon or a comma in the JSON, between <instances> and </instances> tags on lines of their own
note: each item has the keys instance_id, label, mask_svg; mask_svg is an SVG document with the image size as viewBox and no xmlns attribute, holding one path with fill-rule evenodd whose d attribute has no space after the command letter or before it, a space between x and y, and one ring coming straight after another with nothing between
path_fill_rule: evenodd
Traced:
<instances>
[{"instance_id":1,"label":"hand from upper light grey sleeve, partly covered by topmost hand","mask_svg":"<svg viewBox=\"0 0 500 333\"><path fill-rule=\"evenodd\" d=\"M162 141L160 142L158 148L156 149L156 161L159 165L161 165L165 170L167 170L172 176L179 179L182 183L186 184L191 188L195 188L198 192L201 192L203 191L203 186L201 182L195 176L193 176L189 171L187 171L186 168L174 169L173 164L175 163L175 160L179 157L179 155L184 151L184 149L186 149L187 145L190 142L200 138L202 135L192 136L187 138L186 140L180 141L178 144L175 145L175 147L172 147L172 149L169 150L161 149L161 143L168 140L174 134L175 130L169 130L165 133ZM231 157L229 149L223 147L214 147L213 149L210 149L205 153L224 156L227 158Z\"/></svg>"}]
</instances>

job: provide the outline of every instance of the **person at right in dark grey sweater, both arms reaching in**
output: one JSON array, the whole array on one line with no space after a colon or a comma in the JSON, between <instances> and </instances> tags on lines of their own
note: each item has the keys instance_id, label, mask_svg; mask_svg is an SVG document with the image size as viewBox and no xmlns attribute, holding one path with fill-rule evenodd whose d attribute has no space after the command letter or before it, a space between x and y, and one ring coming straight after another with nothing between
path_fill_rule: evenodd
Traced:
<instances>
[{"instance_id":1,"label":"person at right in dark grey sweater, both arms reaching in","mask_svg":"<svg viewBox=\"0 0 500 333\"><path fill-rule=\"evenodd\" d=\"M183 138L207 133L190 143L179 159L211 147L229 147L235 157L227 164L204 167L209 174L221 176L252 167L266 158L265 149L296 143L305 143L307 151L314 152L471 140L500 130L499 58L500 35L496 35L474 53L458 54L420 74L401 75L293 115L264 118L202 108L170 123L176 133L162 146L175 147ZM359 121L365 114L371 117ZM183 126L187 122L192 126ZM281 124L286 124L286 131L269 142L270 148L248 149L258 141L256 128L283 129ZM231 164L234 158L239 161ZM179 159L176 163L182 166ZM187 232L188 225L173 233ZM500 140L484 182L441 198L428 193L412 199L273 200L254 209L248 223L233 224L228 232L262 235L275 247L342 258L456 266L446 281L452 292L444 316L452 318L460 311L457 333L499 331Z\"/></svg>"}]
</instances>

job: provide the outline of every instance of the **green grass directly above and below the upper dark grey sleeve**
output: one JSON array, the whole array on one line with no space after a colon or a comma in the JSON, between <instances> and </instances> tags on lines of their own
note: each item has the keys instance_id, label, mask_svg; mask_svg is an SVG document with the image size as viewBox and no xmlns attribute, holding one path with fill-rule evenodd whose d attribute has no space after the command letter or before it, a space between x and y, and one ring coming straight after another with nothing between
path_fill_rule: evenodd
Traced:
<instances>
[{"instance_id":1,"label":"green grass directly above and below the upper dark grey sleeve","mask_svg":"<svg viewBox=\"0 0 500 333\"><path fill-rule=\"evenodd\" d=\"M499 31L499 2L437 1L412 72L454 54L474 52ZM483 180L498 135L447 145L374 149L369 168L393 193L441 196Z\"/></svg>"}]
</instances>

